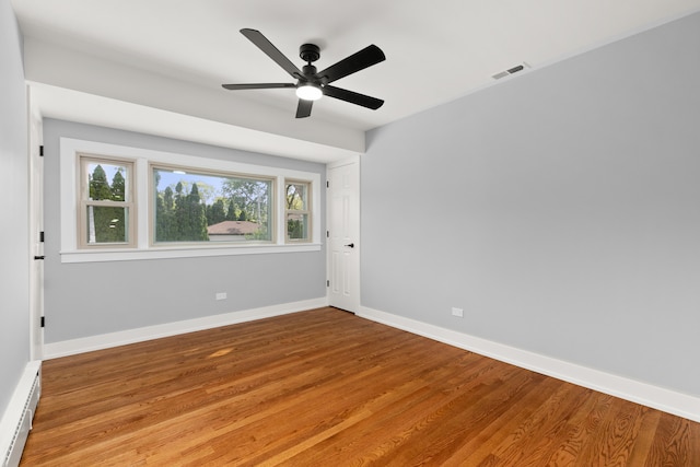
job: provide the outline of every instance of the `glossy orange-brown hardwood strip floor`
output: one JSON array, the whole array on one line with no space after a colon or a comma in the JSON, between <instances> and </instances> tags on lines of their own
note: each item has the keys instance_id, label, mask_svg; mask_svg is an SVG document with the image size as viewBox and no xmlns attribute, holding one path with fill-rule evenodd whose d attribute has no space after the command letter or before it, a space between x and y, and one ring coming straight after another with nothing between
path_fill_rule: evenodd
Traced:
<instances>
[{"instance_id":1,"label":"glossy orange-brown hardwood strip floor","mask_svg":"<svg viewBox=\"0 0 700 467\"><path fill-rule=\"evenodd\" d=\"M43 376L23 466L700 466L700 423L335 308Z\"/></svg>"}]
</instances>

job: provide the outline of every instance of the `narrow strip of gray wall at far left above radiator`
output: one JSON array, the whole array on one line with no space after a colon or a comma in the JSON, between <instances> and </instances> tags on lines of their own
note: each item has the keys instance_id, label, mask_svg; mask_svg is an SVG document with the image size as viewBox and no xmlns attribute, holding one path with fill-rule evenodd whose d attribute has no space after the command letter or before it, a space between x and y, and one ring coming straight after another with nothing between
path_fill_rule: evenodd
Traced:
<instances>
[{"instance_id":1,"label":"narrow strip of gray wall at far left above radiator","mask_svg":"<svg viewBox=\"0 0 700 467\"><path fill-rule=\"evenodd\" d=\"M22 39L0 0L0 417L30 360L28 171Z\"/></svg>"}]
</instances>

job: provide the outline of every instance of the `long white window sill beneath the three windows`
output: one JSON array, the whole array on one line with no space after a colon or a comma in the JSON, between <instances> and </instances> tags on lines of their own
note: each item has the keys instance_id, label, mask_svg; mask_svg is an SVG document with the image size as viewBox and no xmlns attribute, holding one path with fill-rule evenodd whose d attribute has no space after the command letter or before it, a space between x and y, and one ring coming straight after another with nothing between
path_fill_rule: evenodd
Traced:
<instances>
[{"instance_id":1,"label":"long white window sill beneath the three windows","mask_svg":"<svg viewBox=\"0 0 700 467\"><path fill-rule=\"evenodd\" d=\"M277 253L319 252L320 244L175 246L153 248L113 248L61 252L61 262L140 261L145 259L197 258L207 256L264 255Z\"/></svg>"}]
</instances>

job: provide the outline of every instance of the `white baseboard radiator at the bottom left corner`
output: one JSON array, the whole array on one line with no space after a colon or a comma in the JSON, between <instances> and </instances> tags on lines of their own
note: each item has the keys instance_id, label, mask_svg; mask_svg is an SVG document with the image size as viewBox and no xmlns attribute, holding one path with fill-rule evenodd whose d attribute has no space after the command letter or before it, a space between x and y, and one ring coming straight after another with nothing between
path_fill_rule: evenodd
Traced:
<instances>
[{"instance_id":1,"label":"white baseboard radiator at the bottom left corner","mask_svg":"<svg viewBox=\"0 0 700 467\"><path fill-rule=\"evenodd\" d=\"M2 431L8 434L2 443L3 451L0 452L3 456L2 467L20 465L40 395L42 362L30 362L2 418Z\"/></svg>"}]
</instances>

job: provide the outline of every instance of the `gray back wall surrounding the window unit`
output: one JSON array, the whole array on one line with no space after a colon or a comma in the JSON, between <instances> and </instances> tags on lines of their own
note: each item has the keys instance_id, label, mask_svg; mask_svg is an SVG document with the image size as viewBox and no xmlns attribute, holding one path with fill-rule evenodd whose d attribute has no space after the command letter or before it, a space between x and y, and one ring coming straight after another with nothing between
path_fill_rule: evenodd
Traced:
<instances>
[{"instance_id":1,"label":"gray back wall surrounding the window unit","mask_svg":"<svg viewBox=\"0 0 700 467\"><path fill-rule=\"evenodd\" d=\"M322 174L325 165L148 135L44 120L45 342L95 336L326 295L325 250L90 264L60 262L59 138ZM320 222L325 222L322 198ZM228 300L214 301L226 292Z\"/></svg>"}]
</instances>

